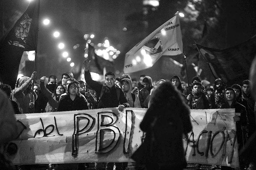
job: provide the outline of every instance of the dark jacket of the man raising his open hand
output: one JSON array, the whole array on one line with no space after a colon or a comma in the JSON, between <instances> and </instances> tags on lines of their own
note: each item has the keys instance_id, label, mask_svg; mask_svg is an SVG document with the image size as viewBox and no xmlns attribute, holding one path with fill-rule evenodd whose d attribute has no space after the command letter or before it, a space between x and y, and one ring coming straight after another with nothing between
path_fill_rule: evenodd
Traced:
<instances>
[{"instance_id":1,"label":"dark jacket of the man raising his open hand","mask_svg":"<svg viewBox=\"0 0 256 170\"><path fill-rule=\"evenodd\" d=\"M89 71L84 71L84 78L86 83L96 91L98 94L97 100L99 100L99 96L102 89L102 84L92 80L91 74ZM118 96L116 91L120 91L120 96L118 100ZM129 107L129 103L126 100L123 90L120 87L113 86L109 88L106 86L105 92L103 93L102 97L98 101L97 108L109 108L109 107L118 107L119 105L124 105L124 107Z\"/></svg>"}]
</instances>

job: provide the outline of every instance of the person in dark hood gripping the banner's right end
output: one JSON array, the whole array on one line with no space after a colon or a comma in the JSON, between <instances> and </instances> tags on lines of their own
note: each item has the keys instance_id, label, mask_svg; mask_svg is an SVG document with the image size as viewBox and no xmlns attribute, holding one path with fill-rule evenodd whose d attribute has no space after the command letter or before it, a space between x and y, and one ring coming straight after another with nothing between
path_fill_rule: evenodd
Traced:
<instances>
[{"instance_id":1,"label":"person in dark hood gripping the banner's right end","mask_svg":"<svg viewBox=\"0 0 256 170\"><path fill-rule=\"evenodd\" d=\"M233 117L236 122L238 149L244 145L243 133L248 125L246 108L236 101L236 92L233 88L228 87L224 95L225 102L218 106L218 109L235 109L236 116Z\"/></svg>"}]
</instances>

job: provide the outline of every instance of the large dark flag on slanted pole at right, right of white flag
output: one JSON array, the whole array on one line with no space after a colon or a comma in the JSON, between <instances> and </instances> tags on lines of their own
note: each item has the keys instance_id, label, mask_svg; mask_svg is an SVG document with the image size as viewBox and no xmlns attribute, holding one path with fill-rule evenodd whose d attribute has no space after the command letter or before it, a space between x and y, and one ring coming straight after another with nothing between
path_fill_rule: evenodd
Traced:
<instances>
[{"instance_id":1,"label":"large dark flag on slanted pole at right, right of white flag","mask_svg":"<svg viewBox=\"0 0 256 170\"><path fill-rule=\"evenodd\" d=\"M228 86L240 84L249 78L250 65L256 54L256 36L237 46L218 50L196 44L210 66L215 78L221 78Z\"/></svg>"}]
</instances>

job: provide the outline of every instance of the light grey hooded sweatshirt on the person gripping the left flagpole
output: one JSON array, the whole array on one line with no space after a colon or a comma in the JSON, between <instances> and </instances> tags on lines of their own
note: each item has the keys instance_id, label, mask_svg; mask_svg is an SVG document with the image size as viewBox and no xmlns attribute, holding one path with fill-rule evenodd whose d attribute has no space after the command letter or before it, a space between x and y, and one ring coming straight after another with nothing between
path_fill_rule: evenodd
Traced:
<instances>
[{"instance_id":1,"label":"light grey hooded sweatshirt on the person gripping the left flagpole","mask_svg":"<svg viewBox=\"0 0 256 170\"><path fill-rule=\"evenodd\" d=\"M30 98L32 98L31 102L35 103L34 95L36 96L36 98L37 98L37 95L35 93L34 93L34 95L32 95L32 93L28 93L27 95L24 94L24 90L30 84L29 77L25 77L25 76L21 77L19 79L19 82L17 82L17 84L18 84L18 87L15 88L12 92L12 94L13 94L12 100L17 102L17 104L19 106L19 110L22 114L34 113L35 107L30 109L29 103L30 103Z\"/></svg>"}]
</instances>

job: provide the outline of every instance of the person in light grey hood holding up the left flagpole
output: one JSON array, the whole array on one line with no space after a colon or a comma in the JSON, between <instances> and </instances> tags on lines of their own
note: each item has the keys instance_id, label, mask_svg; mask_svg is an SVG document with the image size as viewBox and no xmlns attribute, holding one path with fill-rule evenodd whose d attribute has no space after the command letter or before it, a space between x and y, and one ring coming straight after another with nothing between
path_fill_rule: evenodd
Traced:
<instances>
[{"instance_id":1,"label":"person in light grey hood holding up the left flagpole","mask_svg":"<svg viewBox=\"0 0 256 170\"><path fill-rule=\"evenodd\" d=\"M36 77L36 72L33 72L31 77L21 77L17 81L17 86L13 90L12 99L13 101L16 101L19 110L22 114L25 113L34 113L35 112L35 98L37 98L37 95L34 93L34 95L31 93L31 86L32 86L32 80L34 80Z\"/></svg>"}]
</instances>

